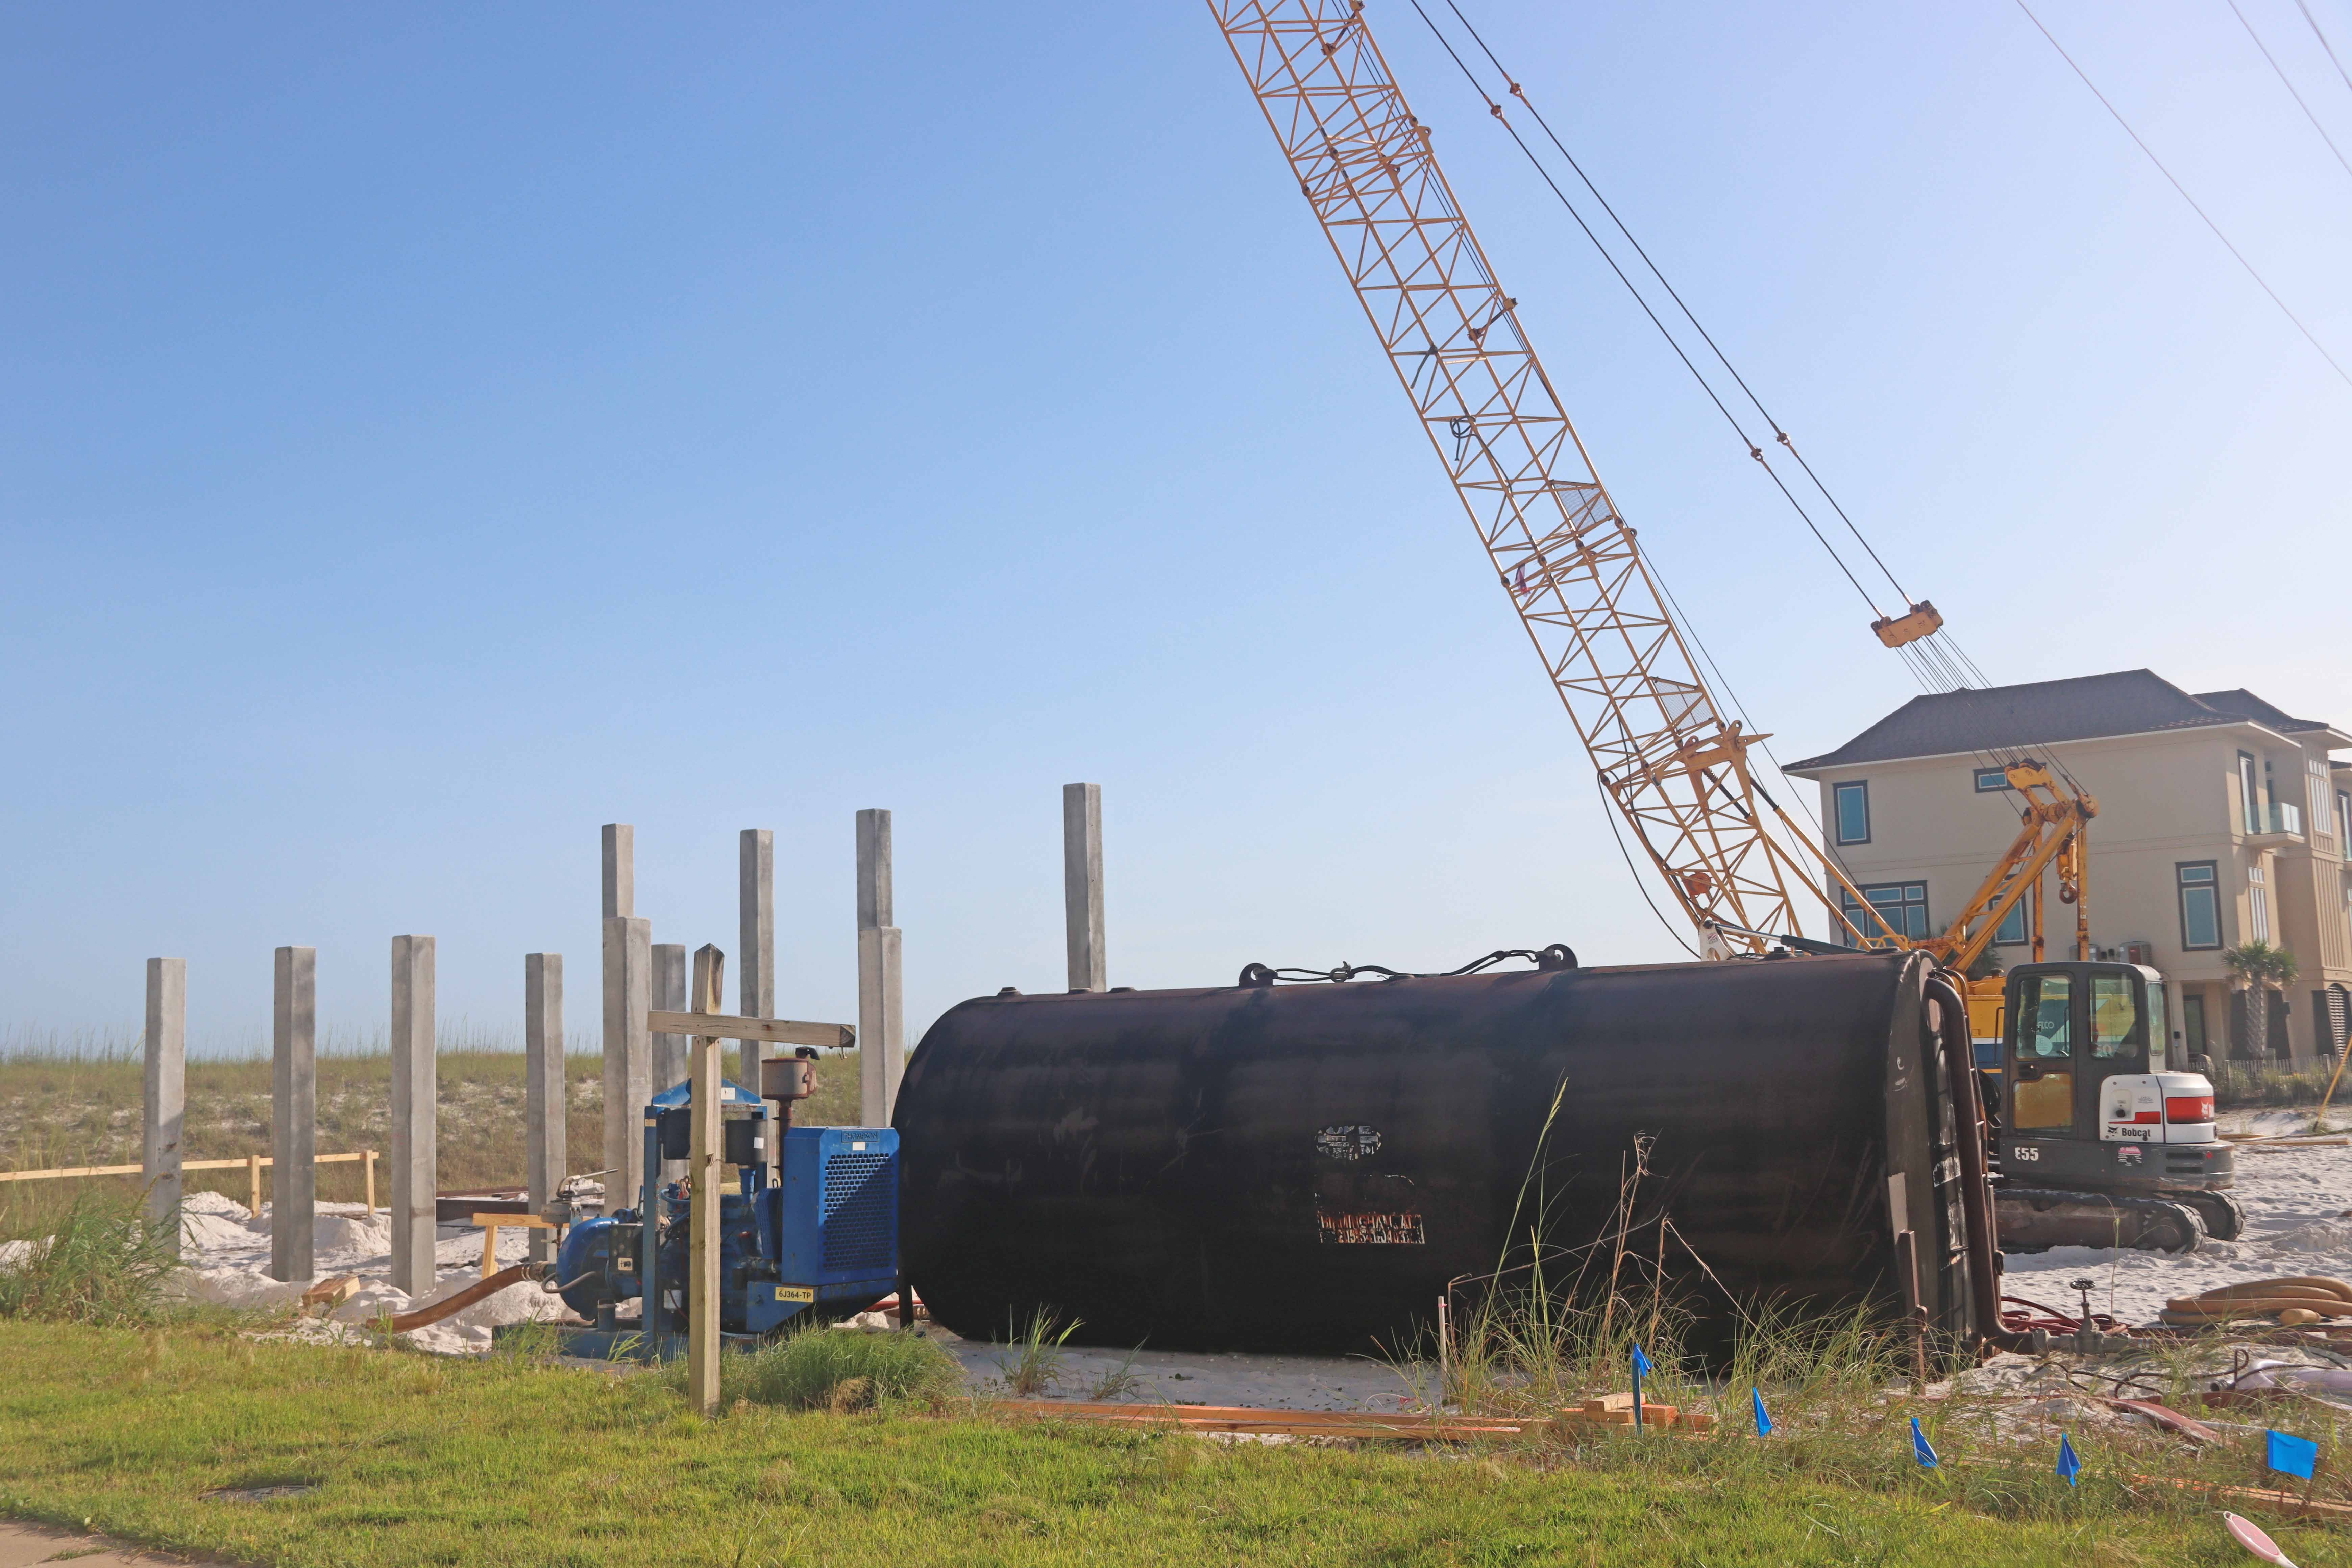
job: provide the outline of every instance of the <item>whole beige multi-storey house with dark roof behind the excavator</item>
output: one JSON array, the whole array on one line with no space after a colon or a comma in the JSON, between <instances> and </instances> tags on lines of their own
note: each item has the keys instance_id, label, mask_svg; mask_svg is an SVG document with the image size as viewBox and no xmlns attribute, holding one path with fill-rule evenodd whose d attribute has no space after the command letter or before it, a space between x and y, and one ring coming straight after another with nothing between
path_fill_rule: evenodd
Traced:
<instances>
[{"instance_id":1,"label":"whole beige multi-storey house with dark roof behind the excavator","mask_svg":"<svg viewBox=\"0 0 2352 1568\"><path fill-rule=\"evenodd\" d=\"M2187 693L2147 670L1912 698L1835 752L1788 769L1820 785L1828 849L1891 922L1940 931L2018 832L2002 759L2063 764L2096 799L2091 943L2164 971L2178 1041L2246 1053L2246 994L2225 947L2265 938L2300 976L2270 999L2270 1051L2343 1051L2352 1016L2352 736L2251 691ZM2044 905L2046 957L2074 912ZM2020 905L2023 910L2023 905ZM2011 917L1997 954L2030 959Z\"/></svg>"}]
</instances>

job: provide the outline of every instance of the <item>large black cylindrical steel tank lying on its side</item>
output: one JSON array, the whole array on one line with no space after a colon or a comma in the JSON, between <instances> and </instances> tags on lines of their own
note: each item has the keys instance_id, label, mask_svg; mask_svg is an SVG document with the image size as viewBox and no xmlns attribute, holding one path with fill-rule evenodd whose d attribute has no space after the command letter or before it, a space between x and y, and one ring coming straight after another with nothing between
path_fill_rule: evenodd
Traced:
<instances>
[{"instance_id":1,"label":"large black cylindrical steel tank lying on its side","mask_svg":"<svg viewBox=\"0 0 2352 1568\"><path fill-rule=\"evenodd\" d=\"M1905 1227L1929 1319L1964 1335L1926 973L1853 954L964 1001L891 1119L903 1267L967 1338L1051 1307L1098 1345L1399 1345L1531 1225L1609 1234L1646 1133L1635 1244L1656 1255L1672 1220L1700 1340L1733 1298L1900 1312Z\"/></svg>"}]
</instances>

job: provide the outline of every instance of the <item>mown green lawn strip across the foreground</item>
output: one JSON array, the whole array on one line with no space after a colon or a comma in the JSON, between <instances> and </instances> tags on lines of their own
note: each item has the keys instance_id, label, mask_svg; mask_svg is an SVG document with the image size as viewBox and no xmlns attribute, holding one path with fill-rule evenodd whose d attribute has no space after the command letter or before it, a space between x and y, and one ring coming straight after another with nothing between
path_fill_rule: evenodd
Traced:
<instances>
[{"instance_id":1,"label":"mown green lawn strip across the foreground","mask_svg":"<svg viewBox=\"0 0 2352 1568\"><path fill-rule=\"evenodd\" d=\"M741 1403L499 1356L428 1361L219 1326L0 1324L0 1512L249 1563L2070 1563L2246 1561L2211 1512L2020 1476L1987 1505L1590 1453L1237 1446L981 1415ZM2105 1455L2084 1453L2100 1474ZM270 1502L214 1488L318 1483ZM2305 1568L2345 1535L2279 1526Z\"/></svg>"}]
</instances>

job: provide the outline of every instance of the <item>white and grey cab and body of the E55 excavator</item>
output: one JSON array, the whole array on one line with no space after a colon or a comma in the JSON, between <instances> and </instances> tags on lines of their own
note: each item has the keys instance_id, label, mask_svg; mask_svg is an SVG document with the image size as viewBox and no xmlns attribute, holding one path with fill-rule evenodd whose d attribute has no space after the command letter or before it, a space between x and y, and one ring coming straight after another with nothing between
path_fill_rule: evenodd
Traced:
<instances>
[{"instance_id":1,"label":"white and grey cab and body of the E55 excavator","mask_svg":"<svg viewBox=\"0 0 2352 1568\"><path fill-rule=\"evenodd\" d=\"M2213 1133L2213 1084L2171 1072L2164 1058L2161 973L2143 964L2020 964L2006 976L2002 1011L1994 1157L2004 1190L2053 1199L2042 1213L2079 1199L2072 1218L2122 1232L2124 1246L2173 1251L2194 1246L2199 1232L2237 1237L2244 1218L2223 1192L2234 1164ZM2016 1208L2002 1204L2004 1244L2018 1229ZM2176 1234L2180 1208L2199 1220L2187 1237ZM2133 1241L2136 1227L2154 1239Z\"/></svg>"}]
</instances>

